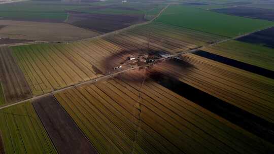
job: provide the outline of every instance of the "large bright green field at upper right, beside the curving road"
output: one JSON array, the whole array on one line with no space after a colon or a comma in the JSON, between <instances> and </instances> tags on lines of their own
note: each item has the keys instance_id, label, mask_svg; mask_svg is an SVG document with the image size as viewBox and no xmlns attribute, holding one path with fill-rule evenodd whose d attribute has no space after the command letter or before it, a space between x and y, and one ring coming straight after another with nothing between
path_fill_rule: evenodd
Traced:
<instances>
[{"instance_id":1,"label":"large bright green field at upper right, beside the curving road","mask_svg":"<svg viewBox=\"0 0 274 154\"><path fill-rule=\"evenodd\" d=\"M191 28L228 37L252 32L274 25L274 22L235 17L207 10L170 6L156 22Z\"/></svg>"}]
</instances>

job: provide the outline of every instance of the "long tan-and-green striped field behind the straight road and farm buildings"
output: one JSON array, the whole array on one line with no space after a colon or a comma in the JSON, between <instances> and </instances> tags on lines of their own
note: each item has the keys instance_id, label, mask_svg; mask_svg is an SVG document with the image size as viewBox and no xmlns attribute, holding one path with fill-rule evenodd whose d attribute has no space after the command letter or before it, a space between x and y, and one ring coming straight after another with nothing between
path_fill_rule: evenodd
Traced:
<instances>
[{"instance_id":1,"label":"long tan-and-green striped field behind the straight road and farm buildings","mask_svg":"<svg viewBox=\"0 0 274 154\"><path fill-rule=\"evenodd\" d=\"M10 48L33 95L40 95L112 72L113 67L119 66L128 56L149 51L177 53L224 39L163 24L150 24L147 27L68 44ZM150 29L153 29L151 34ZM151 38L149 44L147 37Z\"/></svg>"}]
</instances>

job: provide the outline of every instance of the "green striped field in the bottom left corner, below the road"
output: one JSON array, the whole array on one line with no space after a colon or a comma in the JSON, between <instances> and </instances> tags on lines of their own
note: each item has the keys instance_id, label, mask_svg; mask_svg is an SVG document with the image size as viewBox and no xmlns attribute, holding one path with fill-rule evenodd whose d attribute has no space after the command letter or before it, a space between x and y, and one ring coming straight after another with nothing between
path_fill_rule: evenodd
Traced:
<instances>
[{"instance_id":1,"label":"green striped field in the bottom left corner, below the road","mask_svg":"<svg viewBox=\"0 0 274 154\"><path fill-rule=\"evenodd\" d=\"M6 153L57 153L30 102L0 110Z\"/></svg>"}]
</instances>

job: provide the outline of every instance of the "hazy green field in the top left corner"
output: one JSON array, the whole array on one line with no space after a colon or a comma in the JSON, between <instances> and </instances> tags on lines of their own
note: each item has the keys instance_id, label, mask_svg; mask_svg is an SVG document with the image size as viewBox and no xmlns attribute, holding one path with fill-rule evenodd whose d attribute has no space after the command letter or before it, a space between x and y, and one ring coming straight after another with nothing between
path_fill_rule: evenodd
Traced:
<instances>
[{"instance_id":1,"label":"hazy green field in the top left corner","mask_svg":"<svg viewBox=\"0 0 274 154\"><path fill-rule=\"evenodd\" d=\"M89 5L60 2L30 1L0 5L0 17L7 20L63 22L67 10L80 9Z\"/></svg>"}]
</instances>

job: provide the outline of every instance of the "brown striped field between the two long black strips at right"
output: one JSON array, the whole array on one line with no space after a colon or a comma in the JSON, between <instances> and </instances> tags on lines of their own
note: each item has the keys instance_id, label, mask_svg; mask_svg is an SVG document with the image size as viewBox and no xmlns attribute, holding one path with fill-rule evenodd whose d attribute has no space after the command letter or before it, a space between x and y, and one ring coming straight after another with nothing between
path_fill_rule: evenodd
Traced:
<instances>
[{"instance_id":1,"label":"brown striped field between the two long black strips at right","mask_svg":"<svg viewBox=\"0 0 274 154\"><path fill-rule=\"evenodd\" d=\"M194 54L182 59L190 67L164 62L153 69L172 74L181 82L274 122L274 80Z\"/></svg>"}]
</instances>

